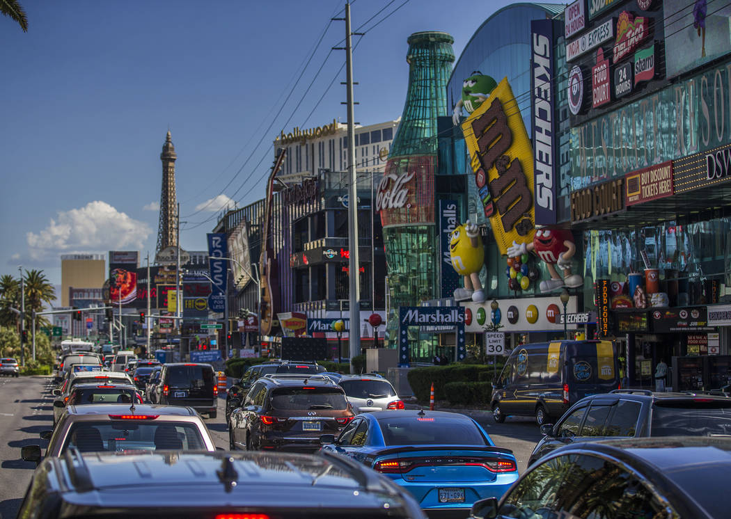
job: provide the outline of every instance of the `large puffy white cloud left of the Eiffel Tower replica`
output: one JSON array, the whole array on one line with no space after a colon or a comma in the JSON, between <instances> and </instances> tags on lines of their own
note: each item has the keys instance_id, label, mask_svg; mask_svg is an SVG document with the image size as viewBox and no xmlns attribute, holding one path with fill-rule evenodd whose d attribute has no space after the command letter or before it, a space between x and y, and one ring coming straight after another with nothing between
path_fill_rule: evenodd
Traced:
<instances>
[{"instance_id":1,"label":"large puffy white cloud left of the Eiffel Tower replica","mask_svg":"<svg viewBox=\"0 0 731 519\"><path fill-rule=\"evenodd\" d=\"M151 233L144 221L120 213L107 202L89 202L83 208L58 211L45 229L28 232L30 259L58 259L59 254L143 249Z\"/></svg>"}]
</instances>

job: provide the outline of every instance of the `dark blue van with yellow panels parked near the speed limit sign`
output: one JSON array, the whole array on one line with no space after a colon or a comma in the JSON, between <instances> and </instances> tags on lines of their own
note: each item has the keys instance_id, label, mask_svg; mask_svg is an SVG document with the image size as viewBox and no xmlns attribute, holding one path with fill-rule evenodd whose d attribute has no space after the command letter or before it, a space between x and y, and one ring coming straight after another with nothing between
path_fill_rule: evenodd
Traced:
<instances>
[{"instance_id":1,"label":"dark blue van with yellow panels parked near the speed limit sign","mask_svg":"<svg viewBox=\"0 0 731 519\"><path fill-rule=\"evenodd\" d=\"M585 396L618 389L619 382L617 346L610 341L523 344L493 382L493 418L532 416L543 425Z\"/></svg>"}]
</instances>

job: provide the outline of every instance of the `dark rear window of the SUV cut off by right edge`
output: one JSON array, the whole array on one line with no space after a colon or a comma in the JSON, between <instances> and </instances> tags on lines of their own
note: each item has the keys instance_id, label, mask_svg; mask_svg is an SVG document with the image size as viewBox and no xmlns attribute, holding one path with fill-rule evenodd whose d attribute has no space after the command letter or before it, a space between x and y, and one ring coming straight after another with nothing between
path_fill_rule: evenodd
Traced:
<instances>
[{"instance_id":1,"label":"dark rear window of the SUV cut off by right edge","mask_svg":"<svg viewBox=\"0 0 731 519\"><path fill-rule=\"evenodd\" d=\"M656 401L651 436L731 435L731 398Z\"/></svg>"}]
</instances>

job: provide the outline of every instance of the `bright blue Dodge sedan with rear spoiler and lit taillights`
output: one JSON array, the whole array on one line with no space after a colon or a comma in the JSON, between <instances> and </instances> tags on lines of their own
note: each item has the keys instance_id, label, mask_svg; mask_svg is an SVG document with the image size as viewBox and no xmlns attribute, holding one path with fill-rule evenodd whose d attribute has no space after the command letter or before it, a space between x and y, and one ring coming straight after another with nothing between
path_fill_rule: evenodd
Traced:
<instances>
[{"instance_id":1,"label":"bright blue Dodge sedan with rear spoiler and lit taillights","mask_svg":"<svg viewBox=\"0 0 731 519\"><path fill-rule=\"evenodd\" d=\"M495 447L488 433L464 414L425 410L358 414L337 438L327 434L320 442L322 450L338 452L390 477L426 512L469 513L474 501L500 498L518 480L512 451Z\"/></svg>"}]
</instances>

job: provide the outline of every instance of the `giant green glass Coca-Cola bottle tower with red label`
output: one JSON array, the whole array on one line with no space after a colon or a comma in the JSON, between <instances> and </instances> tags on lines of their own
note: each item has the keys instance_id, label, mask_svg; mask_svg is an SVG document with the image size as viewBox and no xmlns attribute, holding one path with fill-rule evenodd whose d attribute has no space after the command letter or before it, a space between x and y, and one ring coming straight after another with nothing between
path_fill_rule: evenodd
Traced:
<instances>
[{"instance_id":1,"label":"giant green glass Coca-Cola bottle tower with red label","mask_svg":"<svg viewBox=\"0 0 731 519\"><path fill-rule=\"evenodd\" d=\"M434 219L436 118L448 115L447 80L455 60L454 39L445 32L417 32L408 42L409 89L404 113L376 193L388 265L390 344L398 327L399 306L417 306L439 297Z\"/></svg>"}]
</instances>

